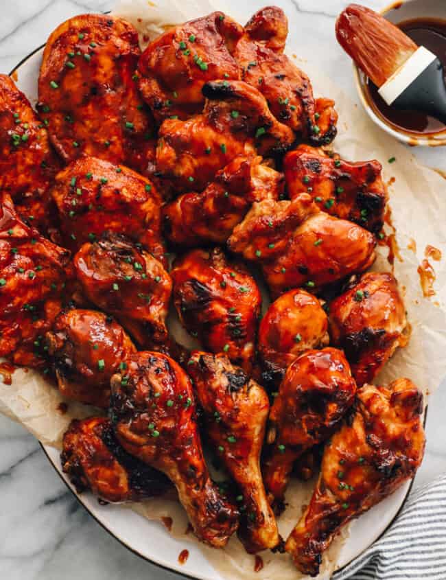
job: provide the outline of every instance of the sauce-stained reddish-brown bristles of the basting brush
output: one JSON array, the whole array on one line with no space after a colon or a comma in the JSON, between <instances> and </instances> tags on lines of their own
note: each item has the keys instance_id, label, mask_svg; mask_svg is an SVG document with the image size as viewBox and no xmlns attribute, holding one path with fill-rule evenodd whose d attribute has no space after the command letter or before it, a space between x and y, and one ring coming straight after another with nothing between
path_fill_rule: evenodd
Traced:
<instances>
[{"instance_id":1,"label":"sauce-stained reddish-brown bristles of the basting brush","mask_svg":"<svg viewBox=\"0 0 446 580\"><path fill-rule=\"evenodd\" d=\"M340 13L336 38L377 86L382 86L418 48L384 16L359 4L350 4Z\"/></svg>"}]
</instances>

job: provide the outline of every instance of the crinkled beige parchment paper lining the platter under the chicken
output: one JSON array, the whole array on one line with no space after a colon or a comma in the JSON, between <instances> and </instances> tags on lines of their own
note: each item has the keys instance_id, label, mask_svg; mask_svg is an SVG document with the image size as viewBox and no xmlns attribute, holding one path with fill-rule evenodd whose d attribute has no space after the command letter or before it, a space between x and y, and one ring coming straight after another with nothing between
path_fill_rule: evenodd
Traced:
<instances>
[{"instance_id":1,"label":"crinkled beige parchment paper lining the platter under the chicken","mask_svg":"<svg viewBox=\"0 0 446 580\"><path fill-rule=\"evenodd\" d=\"M224 10L237 19L235 8L227 10L220 2L208 0L148 2L146 0L121 0L115 13L124 16L138 27L141 43L163 32L169 25L183 22L212 10ZM289 38L288 54L299 54L296 39ZM340 114L339 134L334 148L345 159L378 159L384 167L384 178L390 193L392 223L397 230L395 276L405 295L408 319L412 325L410 343L399 349L378 377L378 382L389 382L399 376L407 376L423 390L432 393L446 375L446 181L434 170L422 167L406 148L379 130L362 108L353 104L340 88L322 75L310 63L296 64L312 79L316 95L336 100ZM388 159L395 157L395 163ZM416 249L414 242L416 242ZM436 272L435 295L423 297L417 268L425 257L425 247L441 250L439 262L430 259ZM386 259L387 248L379 248L375 270L390 270ZM18 370L12 375L12 385L0 385L0 412L21 424L43 443L60 447L60 440L69 421L74 417L86 417L97 410L73 402L68 403L67 413L58 410L64 398L33 371ZM309 500L314 482L303 484L294 481L287 492L289 507L279 520L283 537L292 529L301 514L303 504ZM150 500L134 504L135 509L147 518L169 515L173 520L172 533L185 537L187 519L180 505L173 500ZM348 532L344 531L343 537ZM191 540L191 535L187 536ZM342 537L324 558L321 574L333 570ZM247 555L237 539L233 538L224 550L201 546L213 566L226 579L253 577L253 557ZM295 579L299 577L289 557L263 553L264 568L255 577L258 580Z\"/></svg>"}]
</instances>

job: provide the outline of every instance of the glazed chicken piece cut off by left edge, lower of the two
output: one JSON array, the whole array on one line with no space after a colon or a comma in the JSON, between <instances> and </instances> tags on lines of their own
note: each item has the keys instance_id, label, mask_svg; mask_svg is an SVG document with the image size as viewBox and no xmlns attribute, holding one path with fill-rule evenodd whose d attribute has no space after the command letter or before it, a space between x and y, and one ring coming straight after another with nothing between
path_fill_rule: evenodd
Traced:
<instances>
[{"instance_id":1,"label":"glazed chicken piece cut off by left edge, lower of the two","mask_svg":"<svg viewBox=\"0 0 446 580\"><path fill-rule=\"evenodd\" d=\"M60 310L69 255L22 222L10 196L1 194L0 356L46 365L42 338Z\"/></svg>"}]
</instances>

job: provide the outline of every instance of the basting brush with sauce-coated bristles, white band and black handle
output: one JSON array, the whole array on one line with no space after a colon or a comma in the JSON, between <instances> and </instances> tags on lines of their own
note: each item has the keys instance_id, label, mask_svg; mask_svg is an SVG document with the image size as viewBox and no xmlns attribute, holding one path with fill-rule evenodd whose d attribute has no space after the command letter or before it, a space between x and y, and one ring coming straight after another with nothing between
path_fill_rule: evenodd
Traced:
<instances>
[{"instance_id":1,"label":"basting brush with sauce-coated bristles, white band and black handle","mask_svg":"<svg viewBox=\"0 0 446 580\"><path fill-rule=\"evenodd\" d=\"M446 124L446 88L438 57L416 45L381 14L350 4L336 21L336 38L388 105L422 111Z\"/></svg>"}]
</instances>

